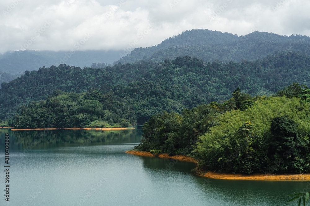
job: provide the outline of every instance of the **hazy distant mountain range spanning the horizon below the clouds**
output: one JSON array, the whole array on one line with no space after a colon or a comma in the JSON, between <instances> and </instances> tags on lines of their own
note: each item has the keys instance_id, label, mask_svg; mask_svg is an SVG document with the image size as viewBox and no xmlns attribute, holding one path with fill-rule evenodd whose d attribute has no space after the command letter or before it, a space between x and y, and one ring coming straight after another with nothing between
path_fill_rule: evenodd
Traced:
<instances>
[{"instance_id":1,"label":"hazy distant mountain range spanning the horizon below the clouds","mask_svg":"<svg viewBox=\"0 0 310 206\"><path fill-rule=\"evenodd\" d=\"M178 36L165 39L152 47L135 48L130 51L15 51L0 55L0 84L9 82L24 74L26 70L38 70L42 66L59 64L74 65L80 68L104 68L108 64L134 63L140 60L163 62L176 57L191 56L206 62L238 62L243 59L263 59L275 52L310 54L310 37L302 35L281 36L268 32L252 32L245 36L231 33L196 29L182 32Z\"/></svg>"}]
</instances>

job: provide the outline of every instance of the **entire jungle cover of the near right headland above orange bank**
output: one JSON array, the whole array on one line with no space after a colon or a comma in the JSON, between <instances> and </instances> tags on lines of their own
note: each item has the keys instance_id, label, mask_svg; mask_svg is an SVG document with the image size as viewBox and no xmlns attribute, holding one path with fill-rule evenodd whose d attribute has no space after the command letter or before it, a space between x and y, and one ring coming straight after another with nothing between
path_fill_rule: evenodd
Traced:
<instances>
[{"instance_id":1,"label":"entire jungle cover of the near right headland above orange bank","mask_svg":"<svg viewBox=\"0 0 310 206\"><path fill-rule=\"evenodd\" d=\"M189 154L199 167L229 173L310 172L310 90L298 83L272 97L235 90L181 114L163 112L144 124L135 149Z\"/></svg>"}]
</instances>

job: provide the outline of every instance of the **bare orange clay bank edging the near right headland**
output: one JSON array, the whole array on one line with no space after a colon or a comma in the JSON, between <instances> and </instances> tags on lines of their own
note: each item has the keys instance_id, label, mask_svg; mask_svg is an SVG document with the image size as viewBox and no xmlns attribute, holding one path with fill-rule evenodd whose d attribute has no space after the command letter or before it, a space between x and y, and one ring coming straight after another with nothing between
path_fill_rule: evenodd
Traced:
<instances>
[{"instance_id":1,"label":"bare orange clay bank edging the near right headland","mask_svg":"<svg viewBox=\"0 0 310 206\"><path fill-rule=\"evenodd\" d=\"M144 157L156 157L150 152L129 150L126 153L135 154ZM168 154L160 154L159 158L171 158L185 162L194 162L196 166L197 161L194 158L185 155L169 156ZM240 180L294 180L294 181L306 181L310 180L310 174L228 174L206 171L202 169L195 170L195 174L201 177L214 178L214 179L240 179Z\"/></svg>"}]
</instances>

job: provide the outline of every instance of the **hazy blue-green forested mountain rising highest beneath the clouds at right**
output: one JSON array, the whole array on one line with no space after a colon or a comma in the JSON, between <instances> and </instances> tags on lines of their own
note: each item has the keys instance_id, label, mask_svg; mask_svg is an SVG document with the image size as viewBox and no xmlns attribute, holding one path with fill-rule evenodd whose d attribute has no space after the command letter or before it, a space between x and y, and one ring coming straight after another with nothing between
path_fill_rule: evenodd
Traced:
<instances>
[{"instance_id":1,"label":"hazy blue-green forested mountain rising highest beneath the clouds at right","mask_svg":"<svg viewBox=\"0 0 310 206\"><path fill-rule=\"evenodd\" d=\"M268 32L252 32L245 36L231 33L196 29L182 32L165 39L161 44L148 48L135 48L118 63L133 63L139 60L164 61L179 56L195 56L204 61L224 62L257 60L275 51L299 51L310 53L310 37L302 35L281 36ZM127 55L127 53L123 53Z\"/></svg>"}]
</instances>

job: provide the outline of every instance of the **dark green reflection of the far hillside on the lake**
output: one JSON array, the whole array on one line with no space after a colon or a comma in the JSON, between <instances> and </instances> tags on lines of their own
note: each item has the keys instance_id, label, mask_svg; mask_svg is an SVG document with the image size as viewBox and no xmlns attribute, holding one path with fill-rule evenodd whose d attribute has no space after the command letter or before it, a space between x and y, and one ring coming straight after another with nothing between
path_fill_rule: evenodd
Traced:
<instances>
[{"instance_id":1,"label":"dark green reflection of the far hillside on the lake","mask_svg":"<svg viewBox=\"0 0 310 206\"><path fill-rule=\"evenodd\" d=\"M39 149L50 147L109 145L139 142L140 129L122 131L100 130L32 130L11 131L0 129L0 146L4 146L4 134L10 134L11 149Z\"/></svg>"}]
</instances>

